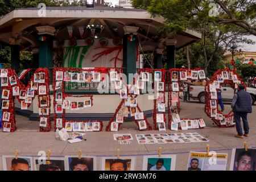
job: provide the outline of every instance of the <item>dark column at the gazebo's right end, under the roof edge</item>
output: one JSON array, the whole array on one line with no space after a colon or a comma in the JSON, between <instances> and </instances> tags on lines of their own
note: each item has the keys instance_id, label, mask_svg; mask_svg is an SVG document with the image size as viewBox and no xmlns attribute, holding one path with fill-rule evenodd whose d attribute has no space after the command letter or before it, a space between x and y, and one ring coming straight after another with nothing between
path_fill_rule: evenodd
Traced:
<instances>
[{"instance_id":1,"label":"dark column at the gazebo's right end, under the roof edge","mask_svg":"<svg viewBox=\"0 0 256 182\"><path fill-rule=\"evenodd\" d=\"M167 70L170 68L175 68L175 52L176 52L176 39L167 39Z\"/></svg>"}]
</instances>

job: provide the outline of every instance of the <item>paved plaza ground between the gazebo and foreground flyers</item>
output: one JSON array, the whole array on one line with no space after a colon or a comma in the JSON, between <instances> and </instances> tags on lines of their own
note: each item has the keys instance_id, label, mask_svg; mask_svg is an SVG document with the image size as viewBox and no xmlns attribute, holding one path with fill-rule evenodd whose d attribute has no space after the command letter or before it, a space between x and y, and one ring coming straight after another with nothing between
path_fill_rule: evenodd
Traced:
<instances>
[{"instance_id":1,"label":"paved plaza ground between the gazebo and foreground flyers","mask_svg":"<svg viewBox=\"0 0 256 182\"><path fill-rule=\"evenodd\" d=\"M230 105L225 105L228 113ZM212 124L210 118L204 113L204 104L197 102L187 103L181 101L180 118L204 118L207 127L205 129L197 130L179 130L171 131L139 131L135 122L123 123L119 134L132 134L132 144L121 145L113 139L114 132L106 132L105 126L108 121L104 122L104 129L102 132L86 133L86 141L80 143L68 143L55 139L53 131L49 133L40 133L39 123L35 121L28 121L26 117L16 115L16 125L18 130L14 133L0 132L0 155L14 155L15 150L19 150L19 155L36 156L39 151L51 150L52 156L63 155L77 155L79 148L82 155L116 155L117 149L120 150L120 155L140 155L137 156L135 164L137 170L142 170L143 154L158 154L159 147L162 147L162 154L164 153L180 153L176 154L176 170L186 170L188 164L189 151L205 151L206 144L210 145L210 150L228 153L228 165L232 148L243 148L243 142L248 142L249 147L256 147L256 106L253 106L253 113L249 114L250 137L238 139L235 138L236 128L219 128ZM148 118L152 125L152 118ZM192 133L196 132L203 137L209 139L209 142L199 143L174 143L174 144L138 144L135 134L154 134L154 133ZM97 169L101 169L100 158L97 159ZM0 162L0 170L2 170L2 162Z\"/></svg>"}]
</instances>

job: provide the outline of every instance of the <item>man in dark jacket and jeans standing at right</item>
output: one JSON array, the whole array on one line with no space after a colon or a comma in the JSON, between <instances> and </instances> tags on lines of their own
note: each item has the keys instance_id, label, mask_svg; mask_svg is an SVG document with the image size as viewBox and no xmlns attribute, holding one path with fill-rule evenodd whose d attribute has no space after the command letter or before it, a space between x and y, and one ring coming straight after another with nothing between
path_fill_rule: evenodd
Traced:
<instances>
[{"instance_id":1,"label":"man in dark jacket and jeans standing at right","mask_svg":"<svg viewBox=\"0 0 256 182\"><path fill-rule=\"evenodd\" d=\"M249 137L249 125L247 121L247 113L252 112L251 108L251 95L250 93L245 91L245 87L242 84L238 85L238 92L234 94L233 101L231 107L234 112L234 120L236 121L236 129L237 138ZM241 126L241 118L243 121L243 130L245 130L245 134L243 135L242 126Z\"/></svg>"}]
</instances>

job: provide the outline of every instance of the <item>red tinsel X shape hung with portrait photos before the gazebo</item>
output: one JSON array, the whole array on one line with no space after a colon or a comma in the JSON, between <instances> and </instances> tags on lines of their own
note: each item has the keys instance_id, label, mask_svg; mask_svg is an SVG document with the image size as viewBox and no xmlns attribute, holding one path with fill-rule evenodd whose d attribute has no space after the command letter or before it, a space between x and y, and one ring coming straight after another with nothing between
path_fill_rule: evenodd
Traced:
<instances>
[{"instance_id":1,"label":"red tinsel X shape hung with portrait photos before the gazebo","mask_svg":"<svg viewBox=\"0 0 256 182\"><path fill-rule=\"evenodd\" d=\"M139 77L139 75L140 75L140 72L138 71L138 74L136 74L135 77L134 77L134 79L133 79L133 84L131 84L130 86L126 84L125 80L122 80L122 84L125 86L125 88L126 88L126 90L127 90L127 98L128 98L128 96L129 96L130 98L137 98L138 95L135 95L135 96L133 97L133 94L131 94L131 93L129 92L129 90L130 90L133 86L135 86L135 82L137 81L137 78ZM110 121L108 122L108 125L106 126L106 129L105 129L106 131L111 131L111 125L112 125L112 123L115 121L119 110L123 107L123 104L125 104L125 98L122 99L122 101L119 103L117 109L115 109L115 113L114 113L113 117L110 119ZM128 107L129 107L129 110L131 111L131 107L130 107L130 106L128 106ZM141 108L139 107L138 103L137 103L136 108L138 109L139 113L142 112L142 110L141 110ZM137 127L139 127L138 121L135 119L135 116L133 116L133 117L134 117L134 121L135 121ZM124 117L124 118L125 118L125 117ZM143 115L143 120L145 121L146 126L147 126L147 128L144 129L144 130L152 130L152 127L151 127L150 123L148 122L147 118L146 118L144 115ZM142 121L143 121L143 120L142 120ZM118 123L118 130L120 129L121 124L122 124L122 123Z\"/></svg>"}]
</instances>

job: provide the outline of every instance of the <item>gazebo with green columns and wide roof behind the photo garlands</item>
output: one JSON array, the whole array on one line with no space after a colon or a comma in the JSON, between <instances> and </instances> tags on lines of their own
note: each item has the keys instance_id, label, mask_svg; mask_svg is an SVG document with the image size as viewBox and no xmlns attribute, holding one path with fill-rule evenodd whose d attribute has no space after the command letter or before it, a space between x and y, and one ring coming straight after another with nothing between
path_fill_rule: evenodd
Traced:
<instances>
[{"instance_id":1,"label":"gazebo with green columns and wide roof behind the photo garlands","mask_svg":"<svg viewBox=\"0 0 256 182\"><path fill-rule=\"evenodd\" d=\"M201 34L189 29L176 35L160 35L158 28L163 23L164 18L153 18L146 10L138 9L104 6L24 8L2 16L0 42L11 47L11 66L17 72L20 71L19 53L27 50L33 52L35 64L31 68L115 67L128 74L143 67L139 55L148 52L154 53L154 68L162 68L164 48L167 69L175 68L175 51L201 39ZM99 53L102 55L97 57ZM102 96L95 96L94 101L100 106L95 104L95 111L89 109L88 113L94 113L94 117L96 113L111 115L116 105L102 107L101 100ZM109 96L108 100L114 102L115 98ZM144 111L152 110L152 104L148 103L143 104ZM38 109L32 106L29 109L33 118ZM104 117L109 118L106 114Z\"/></svg>"}]
</instances>

